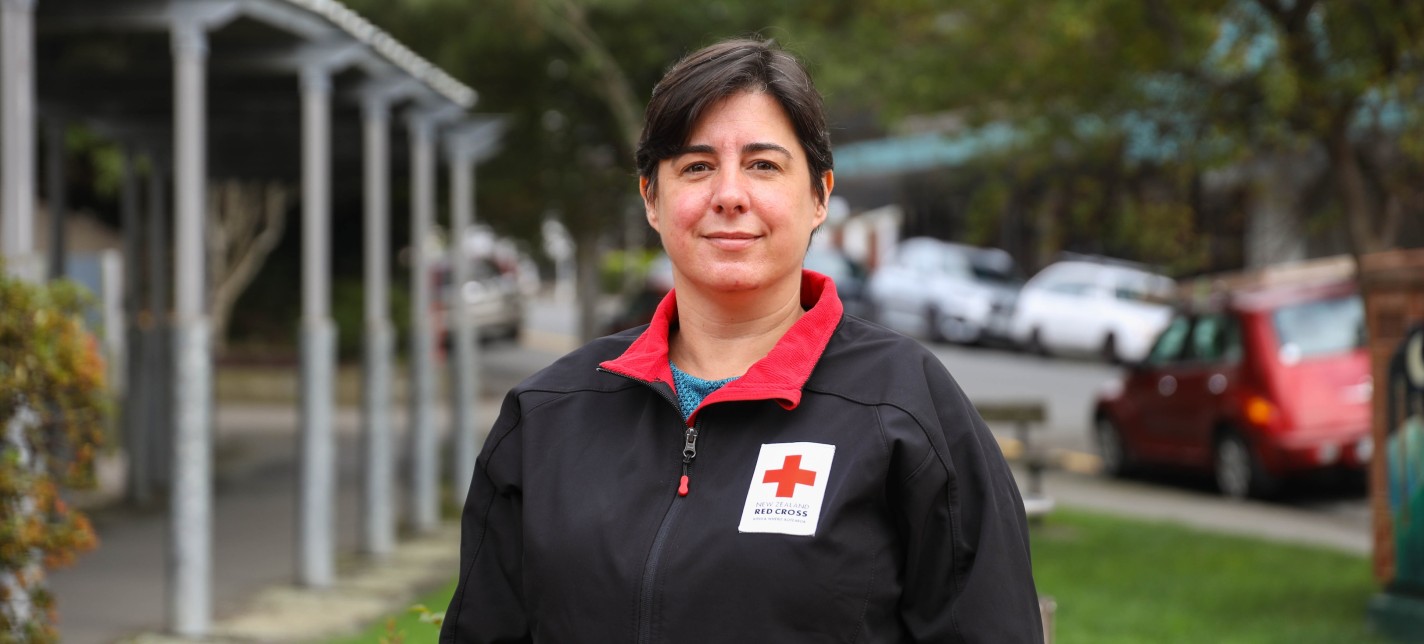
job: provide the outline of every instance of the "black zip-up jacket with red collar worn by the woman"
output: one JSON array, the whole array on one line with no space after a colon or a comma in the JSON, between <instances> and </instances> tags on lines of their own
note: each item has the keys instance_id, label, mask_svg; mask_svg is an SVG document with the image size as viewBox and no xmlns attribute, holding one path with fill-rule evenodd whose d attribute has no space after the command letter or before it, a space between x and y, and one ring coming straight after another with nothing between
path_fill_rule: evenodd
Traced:
<instances>
[{"instance_id":1,"label":"black zip-up jacket with red collar worn by the woman","mask_svg":"<svg viewBox=\"0 0 1424 644\"><path fill-rule=\"evenodd\" d=\"M974 407L918 343L843 318L829 279L802 291L806 315L688 423L674 295L511 390L441 643L1042 641L1022 500ZM785 443L833 446L829 476L756 469ZM813 489L813 536L739 530L806 526L790 502Z\"/></svg>"}]
</instances>

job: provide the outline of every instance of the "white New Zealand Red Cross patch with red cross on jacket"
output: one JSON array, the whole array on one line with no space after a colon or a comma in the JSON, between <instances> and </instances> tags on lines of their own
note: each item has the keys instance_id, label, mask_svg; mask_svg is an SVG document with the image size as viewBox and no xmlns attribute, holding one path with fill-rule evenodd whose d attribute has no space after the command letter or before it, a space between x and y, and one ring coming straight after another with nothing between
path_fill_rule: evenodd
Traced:
<instances>
[{"instance_id":1,"label":"white New Zealand Red Cross patch with red cross on jacket","mask_svg":"<svg viewBox=\"0 0 1424 644\"><path fill-rule=\"evenodd\" d=\"M834 445L769 443L756 457L742 507L742 533L816 534Z\"/></svg>"}]
</instances>

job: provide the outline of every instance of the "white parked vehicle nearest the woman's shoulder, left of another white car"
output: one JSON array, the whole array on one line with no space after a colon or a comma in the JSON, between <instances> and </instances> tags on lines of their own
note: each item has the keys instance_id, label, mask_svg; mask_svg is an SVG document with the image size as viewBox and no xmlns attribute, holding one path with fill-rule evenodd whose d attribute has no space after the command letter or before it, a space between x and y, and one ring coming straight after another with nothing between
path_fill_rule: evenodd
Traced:
<instances>
[{"instance_id":1,"label":"white parked vehicle nearest the woman's shoulder, left of another white car","mask_svg":"<svg viewBox=\"0 0 1424 644\"><path fill-rule=\"evenodd\" d=\"M867 288L880 323L931 341L975 343L1007 335L1018 275L1002 249L916 237L900 242Z\"/></svg>"}]
</instances>

